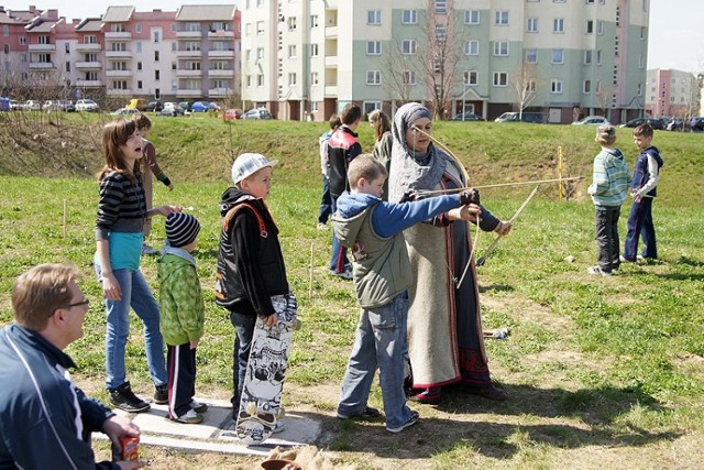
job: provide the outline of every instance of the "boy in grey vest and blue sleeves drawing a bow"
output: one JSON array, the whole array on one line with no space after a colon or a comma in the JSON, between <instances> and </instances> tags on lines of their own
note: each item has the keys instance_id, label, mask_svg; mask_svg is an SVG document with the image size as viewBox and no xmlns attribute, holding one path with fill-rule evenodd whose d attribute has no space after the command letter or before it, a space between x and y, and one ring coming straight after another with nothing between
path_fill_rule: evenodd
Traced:
<instances>
[{"instance_id":1,"label":"boy in grey vest and blue sleeves drawing a bow","mask_svg":"<svg viewBox=\"0 0 704 470\"><path fill-rule=\"evenodd\" d=\"M386 430L400 433L418 422L404 393L407 289L413 282L402 231L438 214L462 207L464 218L479 214L471 194L441 196L408 204L382 201L386 167L371 154L350 162L351 192L338 200L332 229L352 249L354 288L362 307L354 347L342 381L338 418L376 417L367 406L376 369L386 414Z\"/></svg>"}]
</instances>

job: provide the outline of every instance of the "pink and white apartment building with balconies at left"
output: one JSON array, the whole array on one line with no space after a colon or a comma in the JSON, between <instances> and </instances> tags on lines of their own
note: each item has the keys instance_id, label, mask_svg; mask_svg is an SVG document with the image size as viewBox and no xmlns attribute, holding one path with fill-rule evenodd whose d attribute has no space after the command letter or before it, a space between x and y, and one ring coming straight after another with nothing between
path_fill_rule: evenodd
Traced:
<instances>
[{"instance_id":1,"label":"pink and white apartment building with balconies at left","mask_svg":"<svg viewBox=\"0 0 704 470\"><path fill-rule=\"evenodd\" d=\"M0 9L0 86L63 88L68 97L221 100L240 91L240 13L230 6L139 12L109 7L96 19L57 10Z\"/></svg>"}]
</instances>

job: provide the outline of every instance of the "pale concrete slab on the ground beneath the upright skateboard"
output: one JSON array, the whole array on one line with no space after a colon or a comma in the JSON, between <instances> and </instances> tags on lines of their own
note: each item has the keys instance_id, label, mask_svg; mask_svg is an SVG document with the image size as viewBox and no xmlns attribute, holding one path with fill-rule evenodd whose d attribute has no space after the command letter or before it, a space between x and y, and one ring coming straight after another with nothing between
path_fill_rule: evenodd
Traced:
<instances>
[{"instance_id":1,"label":"pale concrete slab on the ground beneath the upright skateboard","mask_svg":"<svg viewBox=\"0 0 704 470\"><path fill-rule=\"evenodd\" d=\"M114 413L128 416L142 431L140 440L146 445L172 447L178 449L201 450L224 453L242 453L266 456L270 450L280 447L315 445L320 437L321 425L306 414L287 411L284 418L285 428L260 446L245 446L234 435L232 405L226 401L199 400L209 408L204 413L204 422L199 424L182 424L168 419L166 405L152 404L147 413ZM95 439L107 439L103 434L95 434Z\"/></svg>"}]
</instances>

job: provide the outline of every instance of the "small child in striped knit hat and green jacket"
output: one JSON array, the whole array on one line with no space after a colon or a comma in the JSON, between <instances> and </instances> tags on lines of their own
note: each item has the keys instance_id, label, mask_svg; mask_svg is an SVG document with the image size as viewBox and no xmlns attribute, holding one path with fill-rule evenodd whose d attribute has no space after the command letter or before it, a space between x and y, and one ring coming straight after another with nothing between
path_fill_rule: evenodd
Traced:
<instances>
[{"instance_id":1,"label":"small child in striped knit hat and green jacket","mask_svg":"<svg viewBox=\"0 0 704 470\"><path fill-rule=\"evenodd\" d=\"M184 212L166 219L166 241L158 260L160 330L166 342L168 418L185 424L202 422L208 405L196 394L196 348L202 337L206 307L196 259L200 223Z\"/></svg>"}]
</instances>

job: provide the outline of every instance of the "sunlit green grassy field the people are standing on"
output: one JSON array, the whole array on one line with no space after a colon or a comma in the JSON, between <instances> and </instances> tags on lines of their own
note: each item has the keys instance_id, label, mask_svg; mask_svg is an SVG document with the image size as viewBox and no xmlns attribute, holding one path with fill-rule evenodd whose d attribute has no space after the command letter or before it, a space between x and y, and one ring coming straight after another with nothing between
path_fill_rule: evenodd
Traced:
<instances>
[{"instance_id":1,"label":"sunlit green grassy field the people are standing on","mask_svg":"<svg viewBox=\"0 0 704 470\"><path fill-rule=\"evenodd\" d=\"M97 186L90 175L100 166L101 119L72 116L58 124L45 123L45 136L23 145L15 142L14 147L6 145L8 128L0 130L0 324L11 320L9 292L21 272L42 262L78 265L92 302L85 336L68 353L78 363L77 382L105 400L105 320L91 272ZM56 136L56 129L63 134ZM596 259L593 205L585 197L597 151L593 128L438 123L435 135L465 162L474 185L557 177L558 146L564 174L585 179L569 188L569 200L559 200L554 185L541 187L512 234L479 269L485 328L510 328L507 339L487 340L493 376L510 400L492 403L451 391L439 406L413 405L421 423L389 435L381 422L334 419L358 309L351 284L327 275L330 232L316 230L317 138L323 131L324 123L155 120L151 138L176 186L168 193L155 185L155 203L193 206L204 227L196 252L207 297L206 337L198 358L200 396L230 396L232 327L212 302L218 200L228 186L231 155L254 151L282 162L268 203L304 320L294 340L286 406L321 420L324 431L318 447L338 466L701 468L704 134L656 134L654 144L666 161L653 210L660 259L625 265L618 275L605 278L586 274ZM360 133L363 147L371 149L371 129L363 123ZM618 138L632 166L630 130L619 129ZM65 144L52 145L56 139ZM51 149L51 157L33 145ZM36 174L42 177L32 176ZM530 190L531 186L485 189L482 200L508 219ZM629 205L623 210L622 233ZM163 237L163 219L156 219L153 244ZM480 253L492 239L480 236ZM575 258L573 263L565 261L569 255ZM157 293L154 258L143 261L143 271ZM138 391L148 393L138 321L133 328L130 379ZM376 386L372 405L381 406ZM106 451L100 445L97 449ZM145 452L156 459L157 468L254 466L252 460L221 456L157 448Z\"/></svg>"}]
</instances>

